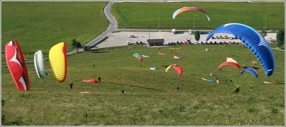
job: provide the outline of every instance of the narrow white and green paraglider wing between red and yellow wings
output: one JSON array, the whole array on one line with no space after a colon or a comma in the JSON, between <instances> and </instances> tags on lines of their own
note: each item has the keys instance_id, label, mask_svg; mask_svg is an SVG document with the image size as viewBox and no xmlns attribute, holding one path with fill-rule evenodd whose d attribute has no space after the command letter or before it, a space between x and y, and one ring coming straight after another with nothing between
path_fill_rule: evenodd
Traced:
<instances>
[{"instance_id":1,"label":"narrow white and green paraglider wing between red and yellow wings","mask_svg":"<svg viewBox=\"0 0 286 127\"><path fill-rule=\"evenodd\" d=\"M34 55L34 65L39 78L44 78L45 65L43 59L43 52L38 50Z\"/></svg>"}]
</instances>

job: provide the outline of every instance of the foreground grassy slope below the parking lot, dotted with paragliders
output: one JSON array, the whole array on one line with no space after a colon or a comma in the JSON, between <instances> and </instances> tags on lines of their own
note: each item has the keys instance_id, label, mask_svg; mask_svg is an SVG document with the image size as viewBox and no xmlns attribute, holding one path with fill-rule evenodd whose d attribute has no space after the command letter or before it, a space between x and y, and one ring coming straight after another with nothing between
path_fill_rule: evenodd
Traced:
<instances>
[{"instance_id":1,"label":"foreground grassy slope below the parking lot, dotted with paragliders","mask_svg":"<svg viewBox=\"0 0 286 127\"><path fill-rule=\"evenodd\" d=\"M147 48L130 45L68 56L67 78L58 83L45 61L48 77L39 79L27 63L30 91L18 91L7 67L1 67L2 125L8 126L285 126L285 52L272 50L275 71L266 77L254 54L234 45L177 45ZM205 51L208 48L209 51ZM215 51L214 49L218 50ZM158 52L167 53L160 55ZM140 62L134 53L149 55ZM173 57L182 59L176 60ZM239 75L231 66L217 67L235 55L240 66L252 66L258 78ZM95 64L95 69L93 68ZM142 64L142 66L140 66ZM178 64L182 76L163 65ZM157 67L158 70L150 70ZM214 72L214 76L209 74ZM191 75L194 74L194 75ZM86 83L97 79L101 83ZM220 84L202 80L221 80ZM233 84L229 79L233 79ZM275 81L279 84L264 84ZM227 79L227 82L224 80ZM239 80L240 92L233 94ZM68 83L74 88L69 92ZM250 91L250 86L253 90ZM176 87L179 86L179 91ZM126 93L121 93L126 90ZM80 94L79 92L90 92Z\"/></svg>"}]
</instances>

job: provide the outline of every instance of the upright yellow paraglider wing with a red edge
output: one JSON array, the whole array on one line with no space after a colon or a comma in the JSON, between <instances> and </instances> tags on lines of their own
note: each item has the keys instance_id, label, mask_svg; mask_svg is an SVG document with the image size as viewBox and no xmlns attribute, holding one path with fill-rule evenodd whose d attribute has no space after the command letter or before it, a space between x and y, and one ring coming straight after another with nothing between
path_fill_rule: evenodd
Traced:
<instances>
[{"instance_id":1,"label":"upright yellow paraglider wing with a red edge","mask_svg":"<svg viewBox=\"0 0 286 127\"><path fill-rule=\"evenodd\" d=\"M66 45L64 42L50 48L48 60L54 77L58 82L64 82L67 69Z\"/></svg>"}]
</instances>

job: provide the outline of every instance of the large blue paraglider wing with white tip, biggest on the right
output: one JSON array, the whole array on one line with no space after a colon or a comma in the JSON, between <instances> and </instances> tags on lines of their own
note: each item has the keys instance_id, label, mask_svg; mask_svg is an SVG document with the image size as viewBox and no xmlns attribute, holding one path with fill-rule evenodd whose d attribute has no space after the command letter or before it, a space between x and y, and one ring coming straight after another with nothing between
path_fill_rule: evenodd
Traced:
<instances>
[{"instance_id":1,"label":"large blue paraglider wing with white tip, biggest on the right","mask_svg":"<svg viewBox=\"0 0 286 127\"><path fill-rule=\"evenodd\" d=\"M273 74L275 68L274 56L268 42L259 32L243 24L230 23L222 25L210 32L207 36L207 40L215 33L229 33L238 37L258 58L264 68L266 76Z\"/></svg>"}]
</instances>

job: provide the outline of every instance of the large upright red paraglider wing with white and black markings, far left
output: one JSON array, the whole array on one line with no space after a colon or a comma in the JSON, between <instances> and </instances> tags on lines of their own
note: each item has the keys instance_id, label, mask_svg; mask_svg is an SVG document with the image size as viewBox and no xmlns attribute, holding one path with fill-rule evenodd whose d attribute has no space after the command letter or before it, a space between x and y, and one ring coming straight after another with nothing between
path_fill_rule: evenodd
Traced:
<instances>
[{"instance_id":1,"label":"large upright red paraglider wing with white and black markings, far left","mask_svg":"<svg viewBox=\"0 0 286 127\"><path fill-rule=\"evenodd\" d=\"M16 40L10 41L5 46L6 62L18 90L29 91L30 81L26 63Z\"/></svg>"}]
</instances>

